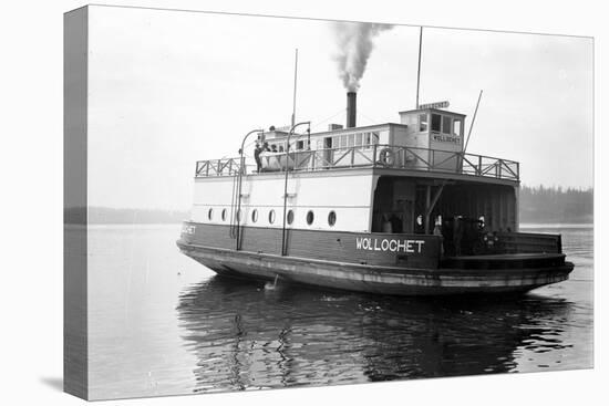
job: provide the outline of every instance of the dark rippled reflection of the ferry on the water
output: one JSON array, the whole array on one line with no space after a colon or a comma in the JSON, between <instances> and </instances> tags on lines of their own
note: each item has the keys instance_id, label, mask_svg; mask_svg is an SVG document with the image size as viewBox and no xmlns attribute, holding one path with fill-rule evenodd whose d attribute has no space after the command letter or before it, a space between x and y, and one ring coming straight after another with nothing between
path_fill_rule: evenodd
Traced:
<instances>
[{"instance_id":1,"label":"dark rippled reflection of the ferry on the water","mask_svg":"<svg viewBox=\"0 0 609 406\"><path fill-rule=\"evenodd\" d=\"M213 277L184 291L194 392L519 372L559 340L572 303L514 298L399 298ZM538 361L538 360L536 360ZM559 362L559 361L557 361Z\"/></svg>"}]
</instances>

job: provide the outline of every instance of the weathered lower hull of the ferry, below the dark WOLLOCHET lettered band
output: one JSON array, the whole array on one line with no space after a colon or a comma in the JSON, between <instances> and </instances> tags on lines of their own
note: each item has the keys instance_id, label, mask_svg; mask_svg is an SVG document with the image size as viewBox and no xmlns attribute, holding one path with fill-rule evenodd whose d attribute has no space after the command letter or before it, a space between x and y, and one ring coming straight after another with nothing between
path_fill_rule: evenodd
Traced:
<instances>
[{"instance_id":1,"label":"weathered lower hull of the ferry, below the dark WOLLOCHET lettered band","mask_svg":"<svg viewBox=\"0 0 609 406\"><path fill-rule=\"evenodd\" d=\"M236 251L177 242L180 251L218 274L393 295L518 293L568 279L572 263L541 268L458 269L369 266Z\"/></svg>"}]
</instances>

